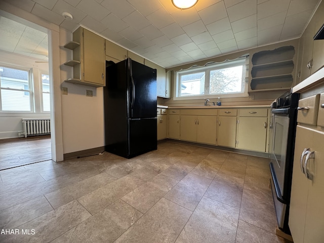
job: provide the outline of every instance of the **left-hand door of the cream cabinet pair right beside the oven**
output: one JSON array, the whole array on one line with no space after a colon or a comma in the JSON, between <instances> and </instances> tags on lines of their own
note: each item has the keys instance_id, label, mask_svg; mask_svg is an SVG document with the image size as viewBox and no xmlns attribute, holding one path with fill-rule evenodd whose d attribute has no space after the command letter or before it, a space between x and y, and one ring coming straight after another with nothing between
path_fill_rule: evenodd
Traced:
<instances>
[{"instance_id":1,"label":"left-hand door of the cream cabinet pair right beside the oven","mask_svg":"<svg viewBox=\"0 0 324 243\"><path fill-rule=\"evenodd\" d=\"M301 172L300 157L304 148L308 148L311 144L312 138L309 133L308 129L297 126L289 210L289 228L295 243L304 242L308 182Z\"/></svg>"}]
</instances>

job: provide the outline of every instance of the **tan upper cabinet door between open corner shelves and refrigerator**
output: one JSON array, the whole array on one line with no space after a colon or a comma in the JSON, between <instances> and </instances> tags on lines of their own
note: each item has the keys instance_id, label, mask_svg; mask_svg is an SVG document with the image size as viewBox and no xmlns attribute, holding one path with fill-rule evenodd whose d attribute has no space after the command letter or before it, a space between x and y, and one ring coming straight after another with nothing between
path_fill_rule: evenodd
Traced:
<instances>
[{"instance_id":1,"label":"tan upper cabinet door between open corner shelves and refrigerator","mask_svg":"<svg viewBox=\"0 0 324 243\"><path fill-rule=\"evenodd\" d=\"M105 39L84 29L84 80L104 86L106 82Z\"/></svg>"}]
</instances>

